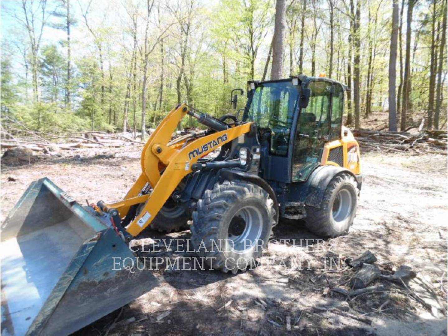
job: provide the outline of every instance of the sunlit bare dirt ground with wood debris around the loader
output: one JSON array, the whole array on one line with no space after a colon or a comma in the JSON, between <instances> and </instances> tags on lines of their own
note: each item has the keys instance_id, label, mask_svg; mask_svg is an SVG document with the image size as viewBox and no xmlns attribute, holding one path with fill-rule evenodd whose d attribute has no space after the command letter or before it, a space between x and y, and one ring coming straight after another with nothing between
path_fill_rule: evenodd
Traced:
<instances>
[{"instance_id":1,"label":"sunlit bare dirt ground with wood debris around the loader","mask_svg":"<svg viewBox=\"0 0 448 336\"><path fill-rule=\"evenodd\" d=\"M139 175L139 155L138 146L129 146L2 166L1 220L40 177L81 203L119 200ZM78 334L446 335L447 157L363 153L362 164L365 183L347 235L322 241L300 222L281 221L260 267L237 275L154 271L159 287ZM8 181L11 176L17 181ZM146 231L142 239L189 236ZM349 289L353 271L328 267L329 258L356 258L366 250L376 255L383 274L408 265L417 278L409 288L376 280L371 285L383 289L356 297L333 291Z\"/></svg>"}]
</instances>

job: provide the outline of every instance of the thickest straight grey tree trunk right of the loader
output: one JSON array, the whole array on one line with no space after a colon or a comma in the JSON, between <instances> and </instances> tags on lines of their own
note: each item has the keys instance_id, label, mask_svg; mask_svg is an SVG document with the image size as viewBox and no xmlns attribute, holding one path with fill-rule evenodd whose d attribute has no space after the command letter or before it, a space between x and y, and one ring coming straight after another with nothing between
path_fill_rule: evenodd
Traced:
<instances>
[{"instance_id":1,"label":"thickest straight grey tree trunk right of the loader","mask_svg":"<svg viewBox=\"0 0 448 336\"><path fill-rule=\"evenodd\" d=\"M391 47L389 55L389 131L396 131L396 54L398 40L398 0L394 0L392 4L392 34Z\"/></svg>"}]
</instances>

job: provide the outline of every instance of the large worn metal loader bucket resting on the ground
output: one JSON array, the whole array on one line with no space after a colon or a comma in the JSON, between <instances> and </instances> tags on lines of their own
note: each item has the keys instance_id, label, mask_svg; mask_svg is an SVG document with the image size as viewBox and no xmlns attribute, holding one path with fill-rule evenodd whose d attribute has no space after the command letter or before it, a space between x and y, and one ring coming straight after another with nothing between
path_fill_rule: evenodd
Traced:
<instances>
[{"instance_id":1,"label":"large worn metal loader bucket resting on the ground","mask_svg":"<svg viewBox=\"0 0 448 336\"><path fill-rule=\"evenodd\" d=\"M47 178L2 224L0 251L2 335L68 335L158 283L123 269L135 262L127 244Z\"/></svg>"}]
</instances>

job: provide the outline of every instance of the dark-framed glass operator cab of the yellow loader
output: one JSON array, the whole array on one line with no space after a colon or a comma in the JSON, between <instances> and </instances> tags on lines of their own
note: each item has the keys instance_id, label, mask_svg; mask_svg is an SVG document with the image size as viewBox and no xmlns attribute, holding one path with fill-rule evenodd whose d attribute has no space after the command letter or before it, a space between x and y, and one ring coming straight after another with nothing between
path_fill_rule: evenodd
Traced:
<instances>
[{"instance_id":1,"label":"dark-framed glass operator cab of the yellow loader","mask_svg":"<svg viewBox=\"0 0 448 336\"><path fill-rule=\"evenodd\" d=\"M326 142L340 139L345 86L303 75L248 82L243 121L258 126L260 177L284 183L306 181Z\"/></svg>"}]
</instances>

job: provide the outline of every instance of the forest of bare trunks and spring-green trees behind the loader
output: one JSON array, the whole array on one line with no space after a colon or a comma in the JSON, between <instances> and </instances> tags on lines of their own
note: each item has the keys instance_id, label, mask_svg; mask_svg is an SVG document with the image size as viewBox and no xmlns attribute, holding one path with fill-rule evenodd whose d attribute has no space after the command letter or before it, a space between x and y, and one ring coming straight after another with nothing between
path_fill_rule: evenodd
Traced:
<instances>
[{"instance_id":1,"label":"forest of bare trunks and spring-green trees behind the loader","mask_svg":"<svg viewBox=\"0 0 448 336\"><path fill-rule=\"evenodd\" d=\"M135 135L181 102L221 116L233 88L270 79L273 59L280 77L348 85L351 128L375 111L391 111L390 130L446 128L446 1L282 2L2 1L2 137Z\"/></svg>"}]
</instances>

